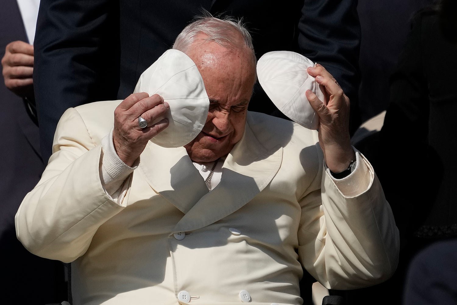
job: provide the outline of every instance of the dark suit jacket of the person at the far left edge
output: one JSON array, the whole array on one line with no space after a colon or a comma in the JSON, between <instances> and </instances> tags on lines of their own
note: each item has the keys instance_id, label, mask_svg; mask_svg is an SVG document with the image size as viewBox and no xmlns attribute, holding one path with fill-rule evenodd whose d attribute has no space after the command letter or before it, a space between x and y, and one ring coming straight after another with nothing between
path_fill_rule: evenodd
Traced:
<instances>
[{"instance_id":1,"label":"dark suit jacket of the person at the far left edge","mask_svg":"<svg viewBox=\"0 0 457 305\"><path fill-rule=\"evenodd\" d=\"M27 42L16 0L3 0L0 10L0 58L15 40ZM16 238L14 216L25 195L41 177L38 126L24 101L5 87L0 75L0 300L20 304L61 302L66 297L63 264L37 257ZM3 303L3 302L2 302Z\"/></svg>"}]
</instances>

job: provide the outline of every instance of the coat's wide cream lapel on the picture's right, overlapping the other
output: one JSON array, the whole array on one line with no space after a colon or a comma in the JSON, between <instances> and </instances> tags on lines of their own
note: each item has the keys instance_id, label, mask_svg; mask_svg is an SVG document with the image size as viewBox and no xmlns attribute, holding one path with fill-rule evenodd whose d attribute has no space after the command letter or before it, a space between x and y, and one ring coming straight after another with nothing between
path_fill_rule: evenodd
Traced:
<instances>
[{"instance_id":1,"label":"coat's wide cream lapel on the picture's right, overlapping the other","mask_svg":"<svg viewBox=\"0 0 457 305\"><path fill-rule=\"evenodd\" d=\"M221 182L195 203L174 231L197 230L234 213L271 182L281 162L282 147L266 150L246 124L243 138L224 161Z\"/></svg>"}]
</instances>

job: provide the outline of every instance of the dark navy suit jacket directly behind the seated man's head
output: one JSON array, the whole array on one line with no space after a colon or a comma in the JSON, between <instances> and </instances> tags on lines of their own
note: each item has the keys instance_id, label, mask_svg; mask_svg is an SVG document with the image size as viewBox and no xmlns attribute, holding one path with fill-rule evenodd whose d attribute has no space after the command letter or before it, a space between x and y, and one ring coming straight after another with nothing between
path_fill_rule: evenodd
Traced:
<instances>
[{"instance_id":1,"label":"dark navy suit jacket directly behind the seated man's head","mask_svg":"<svg viewBox=\"0 0 457 305\"><path fill-rule=\"evenodd\" d=\"M69 107L124 99L141 73L201 8L244 17L257 57L292 50L323 64L356 102L357 0L42 0L35 37L35 95L45 160ZM251 111L271 113L256 88Z\"/></svg>"}]
</instances>

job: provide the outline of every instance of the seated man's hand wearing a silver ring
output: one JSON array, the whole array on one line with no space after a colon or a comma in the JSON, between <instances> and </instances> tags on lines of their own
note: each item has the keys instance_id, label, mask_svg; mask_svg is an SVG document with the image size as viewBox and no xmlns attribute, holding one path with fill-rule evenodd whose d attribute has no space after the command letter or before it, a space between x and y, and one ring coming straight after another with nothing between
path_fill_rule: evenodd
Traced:
<instances>
[{"instance_id":1,"label":"seated man's hand wearing a silver ring","mask_svg":"<svg viewBox=\"0 0 457 305\"><path fill-rule=\"evenodd\" d=\"M166 118L154 125L152 122L164 116L169 108L161 96L149 96L146 92L133 93L117 106L114 110L113 143L117 155L125 164L132 166L148 141L168 127ZM139 127L139 116L148 122L148 127Z\"/></svg>"}]
</instances>

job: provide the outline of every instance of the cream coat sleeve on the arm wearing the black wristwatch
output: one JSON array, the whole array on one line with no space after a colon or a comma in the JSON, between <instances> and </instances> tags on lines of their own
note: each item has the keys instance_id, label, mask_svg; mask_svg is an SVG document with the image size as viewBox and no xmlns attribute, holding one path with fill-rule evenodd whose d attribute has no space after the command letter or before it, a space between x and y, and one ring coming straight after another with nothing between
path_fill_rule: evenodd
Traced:
<instances>
[{"instance_id":1,"label":"cream coat sleeve on the arm wearing the black wristwatch","mask_svg":"<svg viewBox=\"0 0 457 305\"><path fill-rule=\"evenodd\" d=\"M368 182L361 193L343 194L328 172L319 171L300 201L298 255L328 289L381 283L398 264L399 231L392 211L371 164L359 157L367 168L361 178Z\"/></svg>"}]
</instances>

